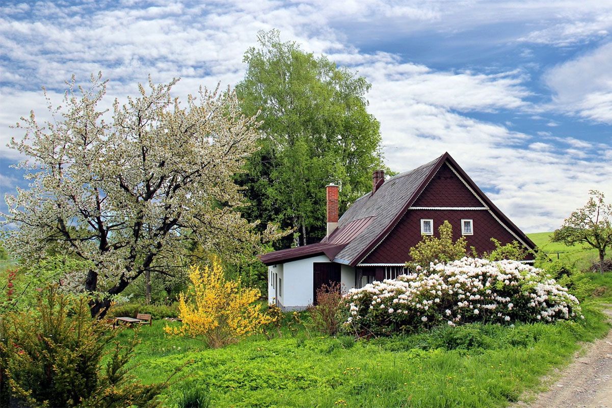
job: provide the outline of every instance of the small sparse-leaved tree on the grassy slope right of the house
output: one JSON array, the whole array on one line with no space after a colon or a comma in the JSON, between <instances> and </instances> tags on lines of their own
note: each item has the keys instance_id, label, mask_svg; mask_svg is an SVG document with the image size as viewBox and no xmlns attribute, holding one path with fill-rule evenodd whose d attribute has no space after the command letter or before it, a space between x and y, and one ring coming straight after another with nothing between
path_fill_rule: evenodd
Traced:
<instances>
[{"instance_id":1,"label":"small sparse-leaved tree on the grassy slope right of the house","mask_svg":"<svg viewBox=\"0 0 612 408\"><path fill-rule=\"evenodd\" d=\"M612 244L612 205L604 202L600 191L590 190L589 195L586 205L573 211L561 228L554 230L551 241L569 246L581 243L585 249L597 249L599 272L603 273L606 248Z\"/></svg>"}]
</instances>

